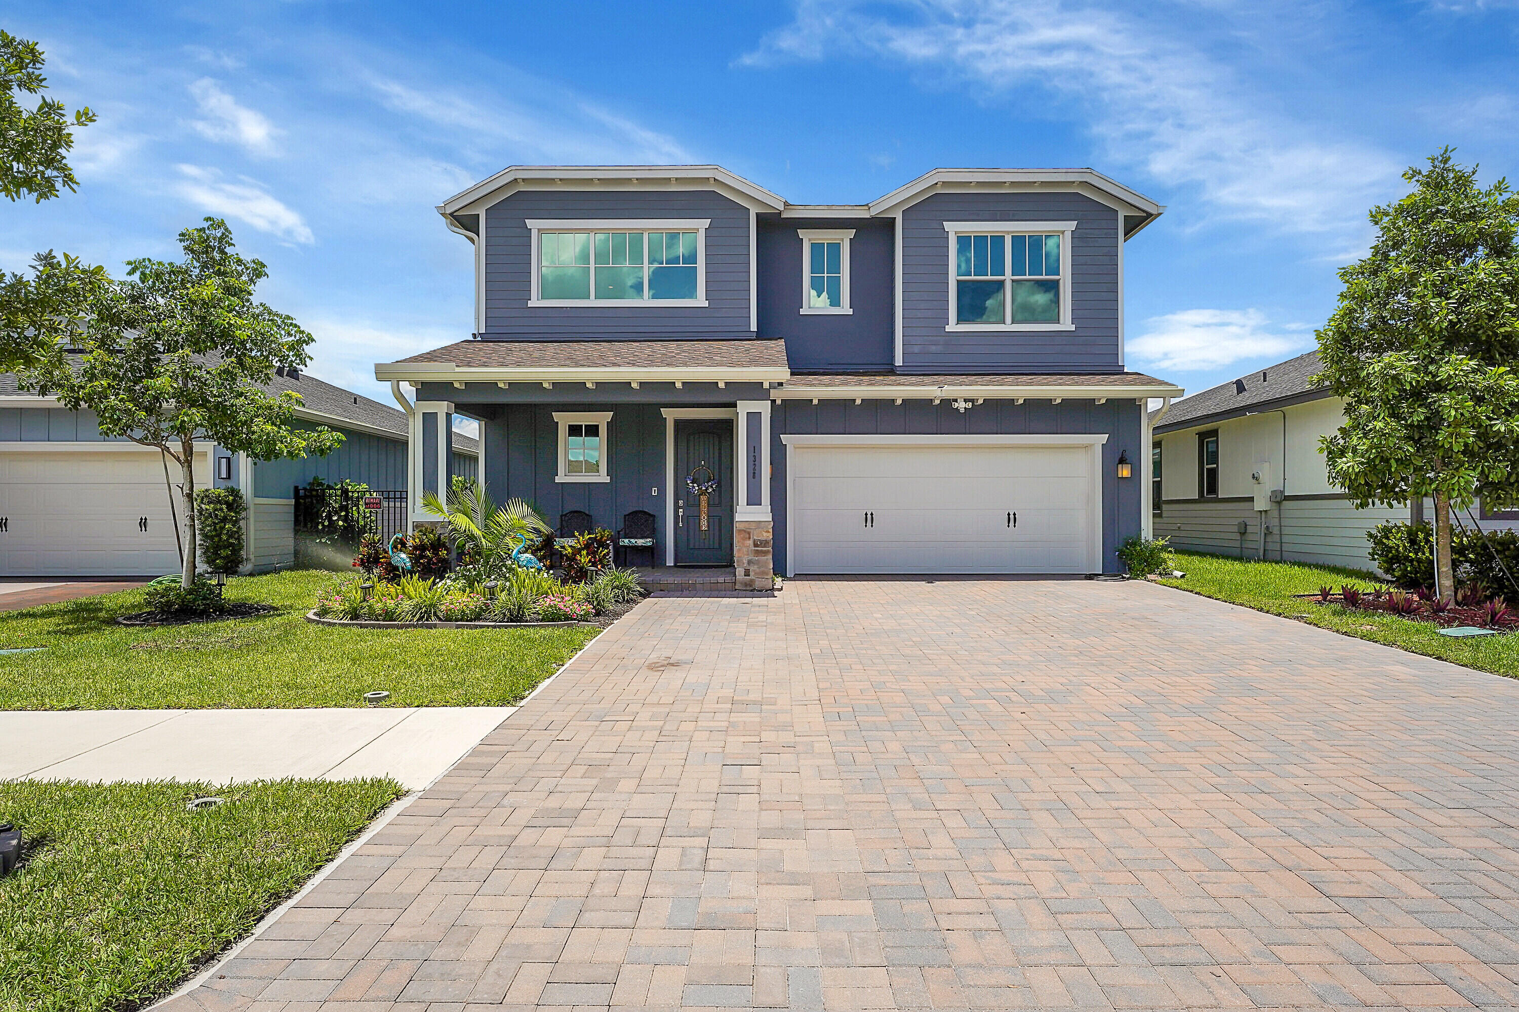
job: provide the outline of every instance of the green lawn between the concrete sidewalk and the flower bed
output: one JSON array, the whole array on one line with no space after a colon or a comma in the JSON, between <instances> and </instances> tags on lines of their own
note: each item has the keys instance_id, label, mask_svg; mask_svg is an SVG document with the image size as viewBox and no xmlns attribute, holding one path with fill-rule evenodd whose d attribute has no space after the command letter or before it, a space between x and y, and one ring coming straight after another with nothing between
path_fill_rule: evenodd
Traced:
<instances>
[{"instance_id":1,"label":"green lawn between the concrete sidewalk and the flower bed","mask_svg":"<svg viewBox=\"0 0 1519 1012\"><path fill-rule=\"evenodd\" d=\"M123 590L0 613L0 710L357 707L369 689L390 706L506 706L597 634L536 630L352 630L305 621L316 592L342 580L293 570L232 580L232 601L278 614L201 625L128 628L143 610Z\"/></svg>"}]
</instances>

